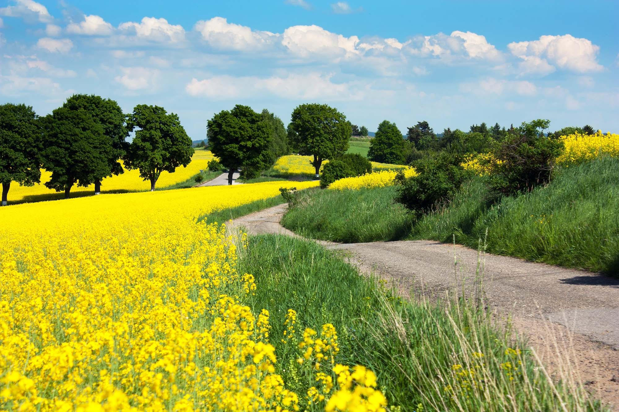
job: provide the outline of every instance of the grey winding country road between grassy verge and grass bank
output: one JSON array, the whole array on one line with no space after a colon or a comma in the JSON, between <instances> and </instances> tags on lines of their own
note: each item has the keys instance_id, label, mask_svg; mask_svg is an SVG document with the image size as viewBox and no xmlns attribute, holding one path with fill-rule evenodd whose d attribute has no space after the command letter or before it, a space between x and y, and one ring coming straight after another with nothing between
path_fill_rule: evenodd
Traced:
<instances>
[{"instance_id":1,"label":"grey winding country road between grassy verge and grass bank","mask_svg":"<svg viewBox=\"0 0 619 412\"><path fill-rule=\"evenodd\" d=\"M251 213L231 228L298 236L280 225L286 208ZM436 241L317 242L404 296L472 293L482 280L488 310L498 320L509 317L551 371L570 364L574 379L619 406L618 279Z\"/></svg>"}]
</instances>

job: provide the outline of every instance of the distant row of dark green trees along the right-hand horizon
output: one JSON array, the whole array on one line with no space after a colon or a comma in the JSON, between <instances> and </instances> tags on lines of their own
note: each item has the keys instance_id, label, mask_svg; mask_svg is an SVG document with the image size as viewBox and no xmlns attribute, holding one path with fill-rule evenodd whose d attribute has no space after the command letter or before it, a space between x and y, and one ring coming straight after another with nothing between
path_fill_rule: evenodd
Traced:
<instances>
[{"instance_id":1,"label":"distant row of dark green trees along the right-hand horizon","mask_svg":"<svg viewBox=\"0 0 619 412\"><path fill-rule=\"evenodd\" d=\"M376 136L370 143L368 152L370 160L404 165L432 152L445 151L459 154L488 152L508 137L521 133L519 128L514 127L513 124L506 129L498 123L492 127L488 127L485 123L473 124L468 132L460 129L452 131L448 127L441 135L435 134L427 121L417 122L415 126L407 129L406 139L403 139L395 123L387 120L381 122L378 125ZM594 134L595 131L593 127L586 125L564 127L560 131L548 132L547 135L558 138L574 132Z\"/></svg>"}]
</instances>

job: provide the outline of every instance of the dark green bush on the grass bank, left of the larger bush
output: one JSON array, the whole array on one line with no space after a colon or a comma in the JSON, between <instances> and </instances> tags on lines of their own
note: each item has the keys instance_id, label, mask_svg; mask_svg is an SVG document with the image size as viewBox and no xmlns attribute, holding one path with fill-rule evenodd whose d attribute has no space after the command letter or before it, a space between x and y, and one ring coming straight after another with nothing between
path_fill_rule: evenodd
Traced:
<instances>
[{"instance_id":1,"label":"dark green bush on the grass bank, left of the larger bush","mask_svg":"<svg viewBox=\"0 0 619 412\"><path fill-rule=\"evenodd\" d=\"M396 175L396 202L417 217L451 198L462 186L468 173L460 166L462 157L441 152L435 158L423 158L413 163L418 176Z\"/></svg>"}]
</instances>

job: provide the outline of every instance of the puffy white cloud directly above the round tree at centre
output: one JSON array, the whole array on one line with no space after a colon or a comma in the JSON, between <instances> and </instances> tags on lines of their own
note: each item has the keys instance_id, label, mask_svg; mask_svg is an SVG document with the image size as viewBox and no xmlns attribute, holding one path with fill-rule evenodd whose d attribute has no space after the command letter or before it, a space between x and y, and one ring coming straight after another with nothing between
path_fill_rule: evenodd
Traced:
<instances>
[{"instance_id":1,"label":"puffy white cloud directly above the round tree at centre","mask_svg":"<svg viewBox=\"0 0 619 412\"><path fill-rule=\"evenodd\" d=\"M284 30L282 45L301 57L312 55L330 58L351 57L360 54L355 46L357 36L345 37L327 32L324 28L311 26L292 26Z\"/></svg>"}]
</instances>

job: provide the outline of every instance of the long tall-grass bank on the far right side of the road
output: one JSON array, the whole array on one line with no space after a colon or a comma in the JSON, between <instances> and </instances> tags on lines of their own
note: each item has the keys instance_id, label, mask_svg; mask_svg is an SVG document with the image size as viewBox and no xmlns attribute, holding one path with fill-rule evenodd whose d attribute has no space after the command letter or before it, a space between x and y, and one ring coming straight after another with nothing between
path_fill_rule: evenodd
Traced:
<instances>
[{"instance_id":1,"label":"long tall-grass bank on the far right side of the road","mask_svg":"<svg viewBox=\"0 0 619 412\"><path fill-rule=\"evenodd\" d=\"M393 191L322 191L285 215L284 225L304 236L346 242L449 242L455 235L456 242L477 247L485 238L488 252L619 274L617 158L563 168L547 187L495 204L485 200L483 179L472 179L448 207L412 223L408 233L402 208L390 202Z\"/></svg>"}]
</instances>

